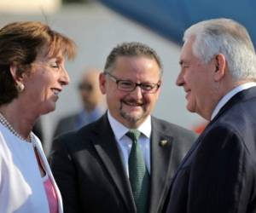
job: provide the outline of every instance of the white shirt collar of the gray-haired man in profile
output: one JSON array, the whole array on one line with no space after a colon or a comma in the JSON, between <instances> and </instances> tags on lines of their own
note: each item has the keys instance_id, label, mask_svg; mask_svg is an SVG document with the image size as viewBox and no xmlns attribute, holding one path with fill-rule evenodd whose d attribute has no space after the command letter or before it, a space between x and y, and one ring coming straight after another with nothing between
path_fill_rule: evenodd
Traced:
<instances>
[{"instance_id":1,"label":"white shirt collar of the gray-haired man in profile","mask_svg":"<svg viewBox=\"0 0 256 213\"><path fill-rule=\"evenodd\" d=\"M212 112L212 117L211 117L211 120L218 114L218 112L220 111L220 109L222 107L224 107L224 105L230 101L230 99L236 95L237 93L239 93L240 91L242 90L245 90L245 89L249 89L251 87L255 87L256 86L256 83L254 82L249 82L249 83L243 83L239 86L237 86L236 88L230 90L230 92L228 92L226 95L224 95L224 97L218 101L218 104L217 106L214 108L213 112Z\"/></svg>"}]
</instances>

